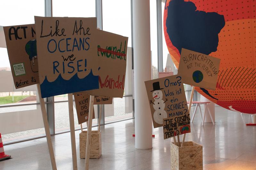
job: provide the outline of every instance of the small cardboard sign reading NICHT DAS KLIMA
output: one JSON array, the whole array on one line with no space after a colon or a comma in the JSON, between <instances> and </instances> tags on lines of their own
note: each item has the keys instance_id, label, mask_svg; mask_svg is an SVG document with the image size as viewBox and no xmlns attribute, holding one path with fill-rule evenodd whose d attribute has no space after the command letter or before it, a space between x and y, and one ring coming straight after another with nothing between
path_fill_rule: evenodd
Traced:
<instances>
[{"instance_id":1,"label":"small cardboard sign reading NICHT DAS KLIMA","mask_svg":"<svg viewBox=\"0 0 256 170\"><path fill-rule=\"evenodd\" d=\"M75 104L76 104L76 114L78 124L84 123L88 121L89 117L89 101L90 101L90 94L81 94L81 93L74 93ZM93 109L93 117L95 119L95 113Z\"/></svg>"}]
</instances>

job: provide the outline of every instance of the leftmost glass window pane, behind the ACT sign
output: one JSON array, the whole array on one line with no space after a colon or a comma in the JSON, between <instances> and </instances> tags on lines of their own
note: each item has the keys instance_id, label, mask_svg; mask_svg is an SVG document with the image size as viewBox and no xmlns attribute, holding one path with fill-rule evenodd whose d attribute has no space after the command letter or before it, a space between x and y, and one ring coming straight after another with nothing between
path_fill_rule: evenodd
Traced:
<instances>
[{"instance_id":1,"label":"leftmost glass window pane, behind the ACT sign","mask_svg":"<svg viewBox=\"0 0 256 170\"><path fill-rule=\"evenodd\" d=\"M1 1L1 7L1 26L33 24L34 16L44 16L44 0ZM0 41L5 41L4 37ZM9 106L39 103L36 85L15 89L6 48L0 48L0 56L0 79L5 81L0 88L0 129L3 142L44 134L39 104Z\"/></svg>"}]
</instances>

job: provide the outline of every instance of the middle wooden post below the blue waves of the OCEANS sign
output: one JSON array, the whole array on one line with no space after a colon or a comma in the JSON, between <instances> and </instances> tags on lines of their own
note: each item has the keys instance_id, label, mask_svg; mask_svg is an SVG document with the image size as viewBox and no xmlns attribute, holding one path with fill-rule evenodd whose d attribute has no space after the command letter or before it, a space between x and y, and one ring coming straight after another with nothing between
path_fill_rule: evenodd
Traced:
<instances>
[{"instance_id":1,"label":"middle wooden post below the blue waves of the OCEANS sign","mask_svg":"<svg viewBox=\"0 0 256 170\"><path fill-rule=\"evenodd\" d=\"M75 137L75 123L74 123L73 94L72 93L68 93L68 113L69 113L69 126L70 126L70 137L71 137L73 170L77 170L76 137Z\"/></svg>"}]
</instances>

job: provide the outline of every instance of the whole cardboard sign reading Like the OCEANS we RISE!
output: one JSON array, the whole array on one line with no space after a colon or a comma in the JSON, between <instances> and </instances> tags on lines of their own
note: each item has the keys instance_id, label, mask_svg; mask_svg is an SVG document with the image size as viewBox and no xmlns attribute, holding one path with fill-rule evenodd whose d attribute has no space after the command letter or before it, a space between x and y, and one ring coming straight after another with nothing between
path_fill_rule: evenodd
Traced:
<instances>
[{"instance_id":1,"label":"whole cardboard sign reading Like the OCEANS we RISE!","mask_svg":"<svg viewBox=\"0 0 256 170\"><path fill-rule=\"evenodd\" d=\"M36 17L42 97L99 88L96 18Z\"/></svg>"}]
</instances>

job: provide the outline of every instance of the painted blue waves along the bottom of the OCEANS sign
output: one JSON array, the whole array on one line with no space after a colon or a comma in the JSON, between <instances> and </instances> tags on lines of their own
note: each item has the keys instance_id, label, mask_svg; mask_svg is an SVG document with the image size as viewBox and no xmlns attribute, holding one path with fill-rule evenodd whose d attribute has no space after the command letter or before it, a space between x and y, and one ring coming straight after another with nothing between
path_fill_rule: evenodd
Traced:
<instances>
[{"instance_id":1,"label":"painted blue waves along the bottom of the OCEANS sign","mask_svg":"<svg viewBox=\"0 0 256 170\"><path fill-rule=\"evenodd\" d=\"M86 90L99 89L99 76L94 76L91 72L85 78L78 78L77 73L69 80L64 80L61 75L49 82L45 76L44 82L40 85L42 98L81 92Z\"/></svg>"}]
</instances>

